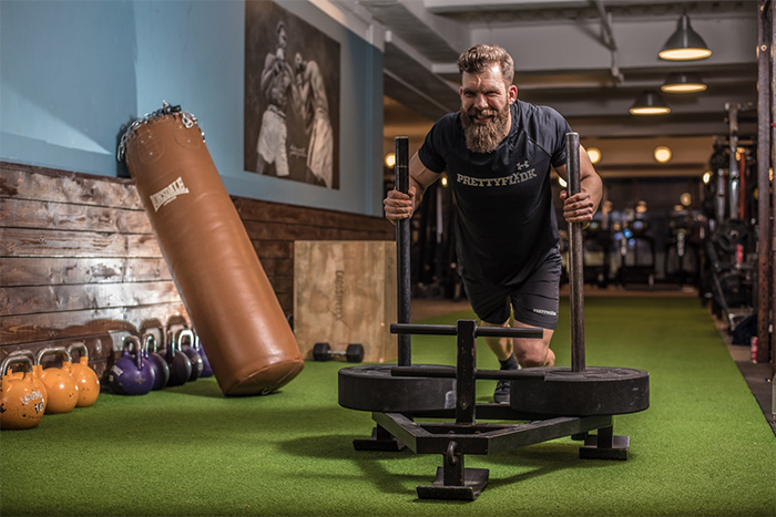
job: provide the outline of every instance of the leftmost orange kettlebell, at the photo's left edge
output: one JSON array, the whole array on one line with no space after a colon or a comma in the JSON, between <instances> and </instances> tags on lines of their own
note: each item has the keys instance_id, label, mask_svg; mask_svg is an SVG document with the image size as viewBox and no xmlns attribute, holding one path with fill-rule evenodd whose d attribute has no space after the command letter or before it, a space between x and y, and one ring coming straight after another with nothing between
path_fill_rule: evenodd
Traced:
<instances>
[{"instance_id":1,"label":"leftmost orange kettlebell, at the photo's left edge","mask_svg":"<svg viewBox=\"0 0 776 517\"><path fill-rule=\"evenodd\" d=\"M16 363L27 365L21 378L8 374L8 368ZM29 430L40 424L45 411L45 400L35 385L30 358L21 353L10 353L0 363L0 428Z\"/></svg>"}]
</instances>

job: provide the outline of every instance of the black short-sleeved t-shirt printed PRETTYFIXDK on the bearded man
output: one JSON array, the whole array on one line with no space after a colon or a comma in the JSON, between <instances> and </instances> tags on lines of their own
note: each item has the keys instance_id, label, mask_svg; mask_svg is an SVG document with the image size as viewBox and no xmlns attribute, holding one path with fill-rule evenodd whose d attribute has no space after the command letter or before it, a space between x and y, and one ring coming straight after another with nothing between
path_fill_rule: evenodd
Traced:
<instances>
[{"instance_id":1,"label":"black short-sleeved t-shirt printed PRETTYFIXDK on the bearded man","mask_svg":"<svg viewBox=\"0 0 776 517\"><path fill-rule=\"evenodd\" d=\"M460 113L440 118L418 151L452 184L461 275L493 285L521 283L557 248L550 169L565 164L571 132L551 107L518 100L510 110L509 135L491 153L467 148Z\"/></svg>"}]
</instances>

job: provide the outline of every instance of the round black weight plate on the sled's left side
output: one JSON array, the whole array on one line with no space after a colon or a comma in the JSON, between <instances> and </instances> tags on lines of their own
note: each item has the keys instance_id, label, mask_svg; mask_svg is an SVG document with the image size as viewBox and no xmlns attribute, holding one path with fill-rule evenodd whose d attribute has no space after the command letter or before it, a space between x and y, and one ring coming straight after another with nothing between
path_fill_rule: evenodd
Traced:
<instances>
[{"instance_id":1,"label":"round black weight plate on the sled's left side","mask_svg":"<svg viewBox=\"0 0 776 517\"><path fill-rule=\"evenodd\" d=\"M339 370L339 405L378 413L456 407L455 379L395 378L392 364L364 364Z\"/></svg>"}]
</instances>

